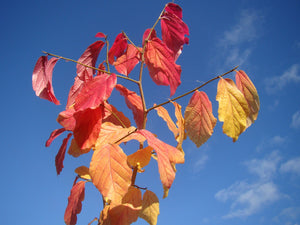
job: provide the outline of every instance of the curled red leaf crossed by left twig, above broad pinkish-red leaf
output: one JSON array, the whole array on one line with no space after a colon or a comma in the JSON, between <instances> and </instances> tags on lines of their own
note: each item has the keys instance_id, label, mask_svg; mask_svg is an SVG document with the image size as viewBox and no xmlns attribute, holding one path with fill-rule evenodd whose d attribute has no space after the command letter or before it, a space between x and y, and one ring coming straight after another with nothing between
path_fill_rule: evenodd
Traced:
<instances>
[{"instance_id":1,"label":"curled red leaf crossed by left twig, above broad pinkish-red leaf","mask_svg":"<svg viewBox=\"0 0 300 225\"><path fill-rule=\"evenodd\" d=\"M78 62L87 65L87 66L92 66L95 67L98 55L104 46L103 41L96 41L93 44L91 44L85 51L84 53L80 56L78 59ZM77 76L84 80L83 77L85 76L84 71L87 71L88 75L90 77L93 76L95 71L91 68L85 67L83 65L77 64Z\"/></svg>"}]
</instances>

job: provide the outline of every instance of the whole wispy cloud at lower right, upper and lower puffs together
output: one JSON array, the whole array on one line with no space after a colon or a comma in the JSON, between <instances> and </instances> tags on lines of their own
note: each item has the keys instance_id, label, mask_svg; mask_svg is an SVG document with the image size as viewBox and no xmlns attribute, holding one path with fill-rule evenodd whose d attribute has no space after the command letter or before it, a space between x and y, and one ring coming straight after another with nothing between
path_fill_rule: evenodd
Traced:
<instances>
[{"instance_id":1,"label":"whole wispy cloud at lower right, upper and lower puffs together","mask_svg":"<svg viewBox=\"0 0 300 225\"><path fill-rule=\"evenodd\" d=\"M279 200L282 195L272 179L281 160L277 151L263 159L245 163L248 171L257 175L255 182L238 181L215 194L217 200L231 202L230 212L223 218L247 217Z\"/></svg>"}]
</instances>

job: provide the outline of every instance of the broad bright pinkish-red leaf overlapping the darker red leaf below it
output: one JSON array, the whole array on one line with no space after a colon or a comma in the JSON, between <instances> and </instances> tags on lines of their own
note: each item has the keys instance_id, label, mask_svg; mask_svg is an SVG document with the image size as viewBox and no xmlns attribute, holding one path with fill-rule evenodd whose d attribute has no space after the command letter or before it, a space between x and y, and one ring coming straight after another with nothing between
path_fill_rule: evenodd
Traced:
<instances>
[{"instance_id":1,"label":"broad bright pinkish-red leaf overlapping the darker red leaf below it","mask_svg":"<svg viewBox=\"0 0 300 225\"><path fill-rule=\"evenodd\" d=\"M75 99L76 111L94 109L107 100L117 83L115 74L102 74L86 82Z\"/></svg>"}]
</instances>

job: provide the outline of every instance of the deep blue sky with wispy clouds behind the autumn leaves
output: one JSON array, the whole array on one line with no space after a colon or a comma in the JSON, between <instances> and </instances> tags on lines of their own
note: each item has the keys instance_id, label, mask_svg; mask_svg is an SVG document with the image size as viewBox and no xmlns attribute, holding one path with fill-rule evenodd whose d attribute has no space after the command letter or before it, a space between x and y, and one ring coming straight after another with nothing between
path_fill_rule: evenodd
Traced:
<instances>
[{"instance_id":1,"label":"deep blue sky with wispy clouds behind the autumn leaves","mask_svg":"<svg viewBox=\"0 0 300 225\"><path fill-rule=\"evenodd\" d=\"M45 141L59 127L75 76L71 62L57 63L53 85L61 106L35 97L31 74L41 51L78 59L103 32L110 41L124 30L141 44L167 1L6 1L0 15L2 69L2 171L0 221L3 224L64 224L63 215L74 169L91 155L67 156L56 175L54 159L63 137L50 148ZM178 59L182 85L177 94L240 65L257 87L257 121L236 143L217 123L214 135L199 149L187 140L186 163L178 166L169 197L162 199L155 162L137 178L160 198L158 224L300 224L300 2L297 0L175 1L190 28L190 44ZM102 55L103 56L103 55ZM233 74L228 76L233 78ZM126 83L122 83L125 84ZM145 76L147 106L169 97ZM203 90L213 103L217 82ZM129 86L133 87L133 86ZM113 93L113 96L118 96ZM185 108L189 97L179 104ZM122 103L116 100L116 104ZM123 105L125 107L125 105ZM168 106L172 110L172 106ZM155 112L148 129L175 144ZM124 148L132 152L135 144ZM91 185L78 224L99 216L101 198ZM147 224L139 219L135 224Z\"/></svg>"}]
</instances>

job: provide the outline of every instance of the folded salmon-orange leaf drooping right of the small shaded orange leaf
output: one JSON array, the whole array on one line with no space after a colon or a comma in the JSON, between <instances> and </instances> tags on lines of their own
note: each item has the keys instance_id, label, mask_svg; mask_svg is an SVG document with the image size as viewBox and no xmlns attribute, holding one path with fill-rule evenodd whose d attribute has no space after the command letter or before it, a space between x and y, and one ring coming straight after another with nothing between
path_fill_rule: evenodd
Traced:
<instances>
[{"instance_id":1,"label":"folded salmon-orange leaf drooping right of the small shaded orange leaf","mask_svg":"<svg viewBox=\"0 0 300 225\"><path fill-rule=\"evenodd\" d=\"M184 163L184 154L177 148L162 142L147 130L138 130L137 133L142 134L147 139L148 145L156 152L160 180L164 186L170 188L175 179L172 163Z\"/></svg>"}]
</instances>

